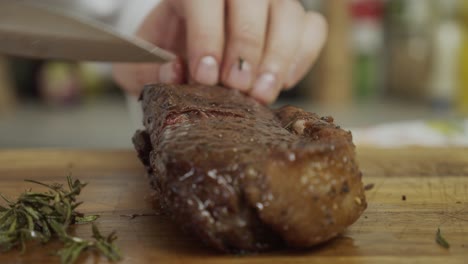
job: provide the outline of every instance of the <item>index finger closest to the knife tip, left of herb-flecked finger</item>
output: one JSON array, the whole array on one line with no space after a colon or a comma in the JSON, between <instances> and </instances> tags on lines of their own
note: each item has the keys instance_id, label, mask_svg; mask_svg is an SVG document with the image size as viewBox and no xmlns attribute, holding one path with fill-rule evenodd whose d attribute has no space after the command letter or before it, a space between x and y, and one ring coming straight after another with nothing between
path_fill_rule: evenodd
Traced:
<instances>
[{"instance_id":1,"label":"index finger closest to the knife tip, left of herb-flecked finger","mask_svg":"<svg viewBox=\"0 0 468 264\"><path fill-rule=\"evenodd\" d=\"M224 1L180 1L184 6L191 77L198 83L217 84L224 48Z\"/></svg>"}]
</instances>

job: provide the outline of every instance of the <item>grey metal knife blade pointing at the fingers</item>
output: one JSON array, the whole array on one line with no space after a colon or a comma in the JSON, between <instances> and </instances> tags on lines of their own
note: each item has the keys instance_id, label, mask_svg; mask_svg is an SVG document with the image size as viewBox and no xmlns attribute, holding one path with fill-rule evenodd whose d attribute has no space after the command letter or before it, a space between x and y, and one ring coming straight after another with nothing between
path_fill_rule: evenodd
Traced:
<instances>
[{"instance_id":1,"label":"grey metal knife blade pointing at the fingers","mask_svg":"<svg viewBox=\"0 0 468 264\"><path fill-rule=\"evenodd\" d=\"M176 58L110 27L21 0L0 0L0 54L43 59L168 62Z\"/></svg>"}]
</instances>

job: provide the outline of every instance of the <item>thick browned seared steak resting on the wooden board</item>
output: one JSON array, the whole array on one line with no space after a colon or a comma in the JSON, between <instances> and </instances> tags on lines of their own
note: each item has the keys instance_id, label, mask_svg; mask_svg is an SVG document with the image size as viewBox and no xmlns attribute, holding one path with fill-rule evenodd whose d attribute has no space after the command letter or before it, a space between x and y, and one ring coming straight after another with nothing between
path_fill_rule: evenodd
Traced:
<instances>
[{"instance_id":1,"label":"thick browned seared steak resting on the wooden board","mask_svg":"<svg viewBox=\"0 0 468 264\"><path fill-rule=\"evenodd\" d=\"M366 208L351 132L217 86L149 85L133 142L161 209L226 252L311 247Z\"/></svg>"}]
</instances>

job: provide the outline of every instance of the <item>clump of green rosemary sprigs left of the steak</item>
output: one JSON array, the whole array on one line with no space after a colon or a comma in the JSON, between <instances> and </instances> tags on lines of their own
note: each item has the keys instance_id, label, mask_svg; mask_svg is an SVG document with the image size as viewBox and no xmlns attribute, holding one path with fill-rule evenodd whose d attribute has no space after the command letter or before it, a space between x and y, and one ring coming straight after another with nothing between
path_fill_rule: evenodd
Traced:
<instances>
[{"instance_id":1,"label":"clump of green rosemary sprigs left of the steak","mask_svg":"<svg viewBox=\"0 0 468 264\"><path fill-rule=\"evenodd\" d=\"M58 237L64 248L58 254L62 263L74 263L85 250L96 250L109 260L119 260L120 251L113 244L115 233L103 237L93 224L94 241L70 236L67 233L72 224L92 223L98 215L84 215L76 211L82 202L76 198L86 183L67 177L67 189L62 184L45 184L26 180L48 188L47 192L38 193L27 190L16 201L10 201L0 194L6 206L0 206L0 250L20 248L24 253L26 243L36 241L49 242Z\"/></svg>"}]
</instances>

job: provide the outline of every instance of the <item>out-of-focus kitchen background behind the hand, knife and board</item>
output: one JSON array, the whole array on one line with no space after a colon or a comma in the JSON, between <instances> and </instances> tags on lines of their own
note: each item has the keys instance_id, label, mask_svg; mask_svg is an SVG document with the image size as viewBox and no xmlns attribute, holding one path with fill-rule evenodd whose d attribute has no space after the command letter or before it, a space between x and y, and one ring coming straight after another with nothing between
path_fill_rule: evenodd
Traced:
<instances>
[{"instance_id":1,"label":"out-of-focus kitchen background behind the hand, knife and board","mask_svg":"<svg viewBox=\"0 0 468 264\"><path fill-rule=\"evenodd\" d=\"M133 1L47 2L127 34L137 24L122 19ZM302 2L326 16L328 43L276 105L332 115L358 145L468 145L468 1ZM108 64L0 55L2 148L129 148L136 122Z\"/></svg>"}]
</instances>

